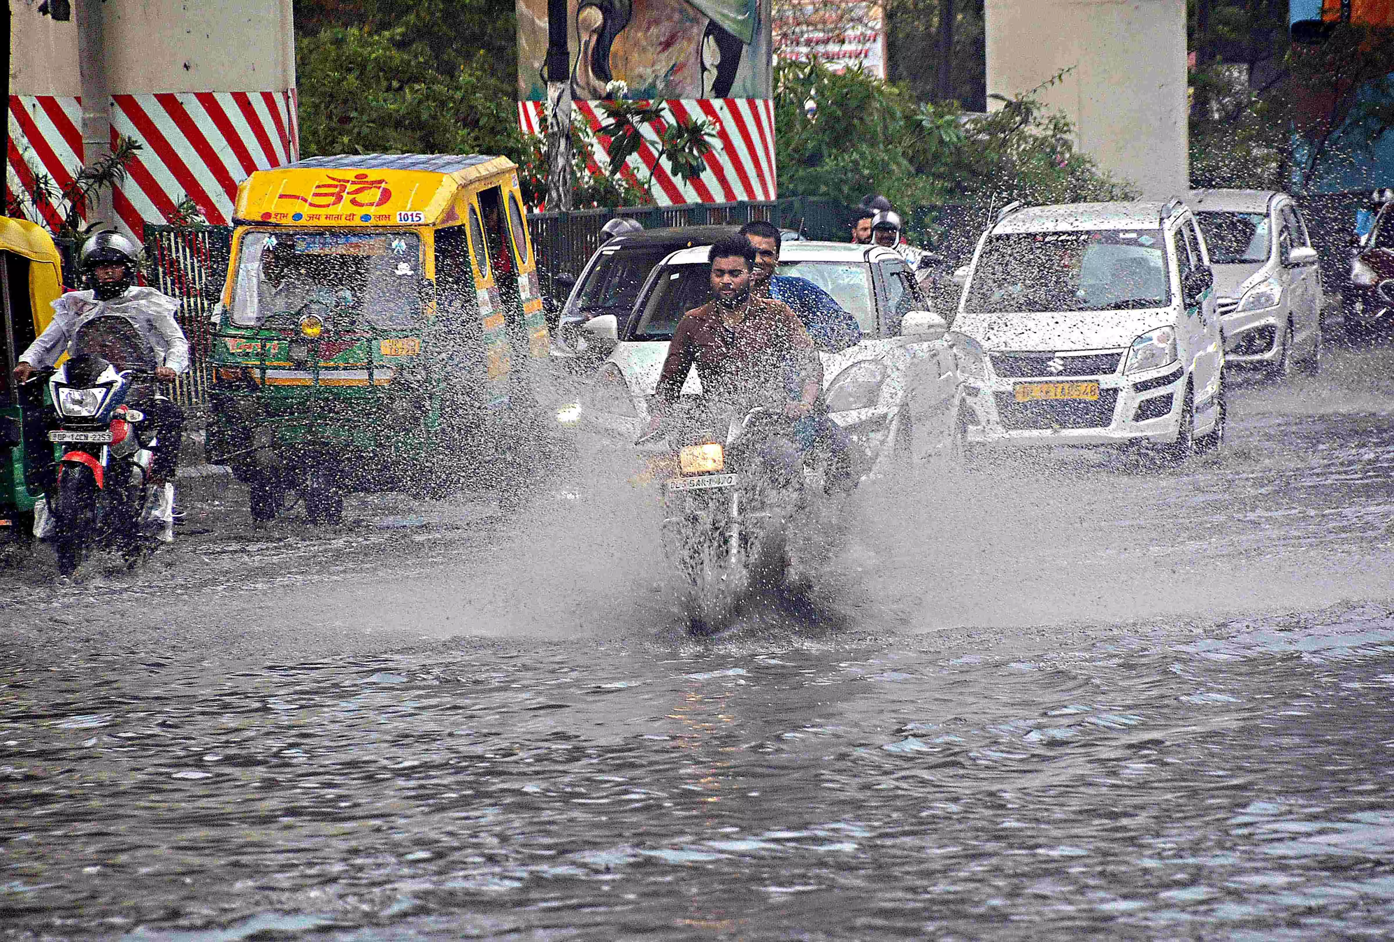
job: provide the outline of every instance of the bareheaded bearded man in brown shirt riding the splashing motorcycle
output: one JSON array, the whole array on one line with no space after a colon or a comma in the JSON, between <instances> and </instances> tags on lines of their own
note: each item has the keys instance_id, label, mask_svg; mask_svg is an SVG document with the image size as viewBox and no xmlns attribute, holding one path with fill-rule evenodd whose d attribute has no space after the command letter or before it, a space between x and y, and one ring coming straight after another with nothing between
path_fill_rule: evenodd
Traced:
<instances>
[{"instance_id":1,"label":"bareheaded bearded man in brown shirt riding the splashing motorcycle","mask_svg":"<svg viewBox=\"0 0 1394 942\"><path fill-rule=\"evenodd\" d=\"M793 421L803 451L827 442L831 422L822 399L822 362L799 316L786 304L751 291L756 248L740 235L723 238L711 247L708 259L714 300L677 322L644 438L659 432L696 366L703 392L714 399L778 407ZM790 479L802 461L788 443L776 440L761 447L760 460L767 472L782 479ZM834 461L829 470L845 479L846 464Z\"/></svg>"}]
</instances>

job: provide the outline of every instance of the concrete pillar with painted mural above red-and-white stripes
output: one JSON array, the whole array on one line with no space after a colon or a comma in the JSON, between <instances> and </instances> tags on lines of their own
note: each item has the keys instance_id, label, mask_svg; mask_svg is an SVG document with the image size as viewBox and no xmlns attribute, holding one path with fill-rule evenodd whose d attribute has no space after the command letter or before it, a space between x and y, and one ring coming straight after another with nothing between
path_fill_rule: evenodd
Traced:
<instances>
[{"instance_id":1,"label":"concrete pillar with painted mural above red-and-white stripes","mask_svg":"<svg viewBox=\"0 0 1394 942\"><path fill-rule=\"evenodd\" d=\"M546 130L546 7L517 0L519 124L528 134ZM598 102L613 98L661 100L669 120L701 118L714 131L703 176L683 180L658 160L664 121L640 128L645 146L629 166L638 178L652 171L655 202L776 198L769 0L569 0L566 22L572 96L591 131L605 124ZM597 134L597 163L608 166L608 148Z\"/></svg>"}]
</instances>

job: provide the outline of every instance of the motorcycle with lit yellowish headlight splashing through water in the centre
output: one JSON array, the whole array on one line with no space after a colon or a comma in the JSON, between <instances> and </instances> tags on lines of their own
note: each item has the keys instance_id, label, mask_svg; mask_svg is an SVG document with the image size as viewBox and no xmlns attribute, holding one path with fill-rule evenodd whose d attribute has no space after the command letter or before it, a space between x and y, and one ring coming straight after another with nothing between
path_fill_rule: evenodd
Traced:
<instances>
[{"instance_id":1,"label":"motorcycle with lit yellowish headlight splashing through water in the centre","mask_svg":"<svg viewBox=\"0 0 1394 942\"><path fill-rule=\"evenodd\" d=\"M708 634L751 589L785 582L795 531L825 503L827 467L806 464L790 421L764 407L689 415L669 446L662 546L687 581L689 630Z\"/></svg>"}]
</instances>

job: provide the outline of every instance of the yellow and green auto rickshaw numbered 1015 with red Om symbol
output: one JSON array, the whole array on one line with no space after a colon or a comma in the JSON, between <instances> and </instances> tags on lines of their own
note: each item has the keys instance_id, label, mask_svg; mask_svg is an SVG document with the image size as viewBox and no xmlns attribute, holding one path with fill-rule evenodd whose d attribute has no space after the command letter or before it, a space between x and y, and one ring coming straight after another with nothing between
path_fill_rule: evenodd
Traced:
<instances>
[{"instance_id":1,"label":"yellow and green auto rickshaw numbered 1015 with red Om symbol","mask_svg":"<svg viewBox=\"0 0 1394 942\"><path fill-rule=\"evenodd\" d=\"M234 215L206 445L255 520L498 472L551 343L512 162L312 157L254 173Z\"/></svg>"}]
</instances>

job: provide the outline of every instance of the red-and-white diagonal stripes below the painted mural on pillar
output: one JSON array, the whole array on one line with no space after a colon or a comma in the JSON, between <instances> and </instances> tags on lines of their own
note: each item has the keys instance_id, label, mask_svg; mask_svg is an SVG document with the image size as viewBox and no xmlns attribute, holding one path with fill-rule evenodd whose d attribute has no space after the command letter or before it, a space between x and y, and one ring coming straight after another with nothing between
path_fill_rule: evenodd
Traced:
<instances>
[{"instance_id":1,"label":"red-and-white diagonal stripes below the painted mural on pillar","mask_svg":"<svg viewBox=\"0 0 1394 942\"><path fill-rule=\"evenodd\" d=\"M659 164L654 173L654 201L664 206L675 203L723 203L743 199L776 199L779 187L775 176L775 107L767 98L671 99L664 102L682 121L705 118L714 125L717 139L705 157L707 170L691 183ZM605 113L599 102L574 102L574 109L590 125L599 131ZM519 102L519 125L524 134L546 132L546 102ZM659 137L665 124L655 121L640 128L645 144L629 159L629 167L640 180L648 171L661 149ZM597 163L609 160L606 138L595 137L592 157Z\"/></svg>"}]
</instances>

